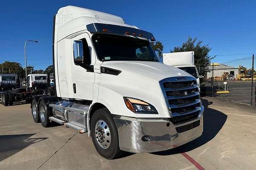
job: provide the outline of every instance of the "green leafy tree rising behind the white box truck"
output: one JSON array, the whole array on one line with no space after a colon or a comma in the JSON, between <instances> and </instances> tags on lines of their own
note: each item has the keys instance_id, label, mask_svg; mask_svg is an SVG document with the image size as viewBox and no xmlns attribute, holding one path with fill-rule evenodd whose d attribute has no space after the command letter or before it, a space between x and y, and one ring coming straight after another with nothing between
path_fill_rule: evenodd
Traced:
<instances>
[{"instance_id":1,"label":"green leafy tree rising behind the white box truck","mask_svg":"<svg viewBox=\"0 0 256 170\"><path fill-rule=\"evenodd\" d=\"M207 66L211 63L211 59L215 56L209 56L209 52L212 50L209 45L202 45L203 41L197 41L197 38L192 39L188 37L188 40L184 42L180 47L175 47L172 52L182 52L182 51L195 51L194 59L195 65L200 69L201 75L205 76L209 70Z\"/></svg>"}]
</instances>

